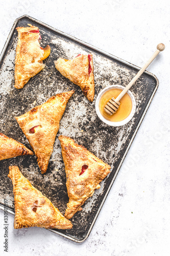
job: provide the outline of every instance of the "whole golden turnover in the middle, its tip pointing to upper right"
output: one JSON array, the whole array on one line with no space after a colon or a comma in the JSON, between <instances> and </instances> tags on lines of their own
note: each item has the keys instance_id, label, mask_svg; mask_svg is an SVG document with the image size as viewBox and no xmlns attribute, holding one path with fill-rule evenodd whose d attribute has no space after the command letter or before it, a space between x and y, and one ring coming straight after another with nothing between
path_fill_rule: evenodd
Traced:
<instances>
[{"instance_id":1,"label":"whole golden turnover in the middle, its tip pointing to upper right","mask_svg":"<svg viewBox=\"0 0 170 256\"><path fill-rule=\"evenodd\" d=\"M15 117L32 146L41 173L46 172L67 102L74 91L56 94L26 114Z\"/></svg>"}]
</instances>

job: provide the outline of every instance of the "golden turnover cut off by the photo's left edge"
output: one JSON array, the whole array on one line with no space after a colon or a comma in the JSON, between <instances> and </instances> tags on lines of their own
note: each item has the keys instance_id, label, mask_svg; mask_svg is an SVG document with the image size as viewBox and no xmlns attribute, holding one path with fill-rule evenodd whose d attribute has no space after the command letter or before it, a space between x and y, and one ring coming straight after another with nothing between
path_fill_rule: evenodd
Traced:
<instances>
[{"instance_id":1,"label":"golden turnover cut off by the photo's left edge","mask_svg":"<svg viewBox=\"0 0 170 256\"><path fill-rule=\"evenodd\" d=\"M34 155L34 153L22 143L0 133L0 160L24 155Z\"/></svg>"}]
</instances>

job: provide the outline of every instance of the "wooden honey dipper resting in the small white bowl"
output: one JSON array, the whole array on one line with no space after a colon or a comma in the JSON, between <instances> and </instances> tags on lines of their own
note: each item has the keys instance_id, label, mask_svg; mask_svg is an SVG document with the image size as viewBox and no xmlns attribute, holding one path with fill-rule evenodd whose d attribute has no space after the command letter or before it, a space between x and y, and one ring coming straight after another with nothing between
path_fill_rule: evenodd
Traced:
<instances>
[{"instance_id":1,"label":"wooden honey dipper resting in the small white bowl","mask_svg":"<svg viewBox=\"0 0 170 256\"><path fill-rule=\"evenodd\" d=\"M130 81L127 87L117 96L115 99L112 97L104 107L104 111L109 114L113 115L119 108L120 102L119 100L127 93L127 91L133 86L136 80L143 74L145 69L151 64L151 62L156 58L156 56L165 49L164 44L157 45L157 50L154 52L152 57L145 63L145 65L139 70L139 72L134 76L134 78Z\"/></svg>"}]
</instances>

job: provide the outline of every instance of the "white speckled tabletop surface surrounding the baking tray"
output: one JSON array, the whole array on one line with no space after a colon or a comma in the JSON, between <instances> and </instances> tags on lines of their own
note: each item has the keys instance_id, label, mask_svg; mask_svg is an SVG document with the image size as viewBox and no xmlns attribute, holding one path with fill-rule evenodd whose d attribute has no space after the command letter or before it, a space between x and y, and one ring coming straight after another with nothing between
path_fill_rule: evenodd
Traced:
<instances>
[{"instance_id":1,"label":"white speckled tabletop surface surrounding the baking tray","mask_svg":"<svg viewBox=\"0 0 170 256\"><path fill-rule=\"evenodd\" d=\"M14 230L9 215L8 255L169 255L169 1L6 0L0 7L0 51L23 14L140 67L159 42L166 46L148 69L159 79L157 93L89 238L76 244L41 228ZM3 255L2 210L0 222Z\"/></svg>"}]
</instances>

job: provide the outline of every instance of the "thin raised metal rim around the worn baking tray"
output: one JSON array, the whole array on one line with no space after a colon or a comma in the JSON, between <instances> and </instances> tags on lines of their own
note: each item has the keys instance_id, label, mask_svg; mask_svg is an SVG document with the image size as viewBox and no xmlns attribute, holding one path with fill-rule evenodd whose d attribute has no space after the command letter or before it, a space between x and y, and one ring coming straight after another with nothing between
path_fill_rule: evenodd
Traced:
<instances>
[{"instance_id":1,"label":"thin raised metal rim around the worn baking tray","mask_svg":"<svg viewBox=\"0 0 170 256\"><path fill-rule=\"evenodd\" d=\"M18 17L18 18L15 19L14 24L13 24L11 30L10 30L10 33L9 33L9 35L8 35L8 37L7 37L7 40L6 40L6 42L5 42L5 45L4 45L4 47L3 47L3 50L2 50L2 52L1 52L1 55L0 55L0 63L1 63L2 59L3 59L3 57L4 57L4 54L5 54L5 51L6 51L7 47L8 47L9 41L10 41L10 39L11 39L11 36L12 36L14 30L15 30L16 23L17 23L18 20L21 19L21 18L29 18L29 19L33 20L33 22L36 22L36 23L38 23L38 24L40 24L40 25L42 25L42 26L44 26L44 27L46 27L46 28L49 28L49 29L51 29L51 30L53 30L53 31L55 31L55 32L57 32L57 33L59 33L59 34L61 34L61 35L64 35L64 36L66 36L66 37L68 37L68 38L70 38L70 39L73 39L73 40L79 42L80 44L85 45L85 46L87 46L87 47L89 47L89 48L91 48L91 49L93 49L93 50L95 50L95 51L98 51L98 52L103 53L103 54L105 54L105 55L107 55L107 56L109 56L109 57L111 57L111 58L113 58L113 59L116 59L116 60L118 60L118 61L120 61L120 62L126 64L127 66L130 66L130 67L135 68L135 69L137 69L137 70L140 70L140 69L141 69L140 67L138 67L138 66L132 64L131 62L128 62L128 61L126 61L126 60L124 60L124 59L122 59L122 58L118 58L118 57L116 57L115 55L112 55L112 54L110 54L110 53L108 53L108 52L105 52L105 51L99 49L98 47L92 46L92 45L88 44L87 42L84 42L84 41L82 41L82 40L80 40L80 39L78 39L78 38L76 38L76 37L74 37L74 36L71 36L71 35L69 35L69 34L67 34L67 33L64 33L64 32L62 32L62 31L58 30L58 29L55 29L55 28L53 28L52 26L47 25L47 24L41 22L40 20L38 20L38 19L36 19L36 18L33 18L33 17L31 17L31 16L29 16L29 15L27 15L27 14L22 15L22 16L20 16L20 17ZM88 232L87 232L87 234L86 234L86 237L85 237L84 239L82 239L82 240L77 240L77 239L72 238L72 237L70 237L70 236L68 236L68 235L66 235L66 234L63 234L63 233L61 233L61 232L59 232L59 231L57 231L57 230L54 230L54 229L48 229L48 230L50 230L50 231L52 231L52 232L54 232L54 233L57 233L57 234L59 234L60 236L62 236L62 237L64 237L64 238L67 238L67 239L69 239L69 240L71 240L71 241L73 241L73 242L76 242L76 243L82 243L82 242L84 242L84 241L88 238L88 236L89 236L89 234L90 234L90 232L91 232L91 230L92 230L92 228L93 228L93 225L94 225L96 219L98 218L99 213L100 213L100 211L101 211L101 209L102 209L102 207L103 207L103 204L104 204L104 202L105 202L105 200L106 200L106 198L107 198L107 196L108 196L108 194L109 194L109 191L110 191L110 189L111 189L111 187L112 187L112 185L113 185L113 183L114 183L114 181L115 181L115 178L116 178L116 176L117 176L117 174L118 174L118 172L119 172L119 170L120 170L120 167L122 166L122 164L123 164L123 162L124 162L124 160L125 160L125 157L126 157L128 151L129 151L129 148L130 148L130 146L132 145L132 142L133 142L133 140L134 140L134 138L135 138L135 136L136 136L136 134L137 134L137 131L139 130L140 124L142 123L143 118L144 118L145 114L147 113L147 111L148 111L148 109L149 109L149 106L150 106L150 104L151 104L151 102L152 102L152 100L153 100L153 97L154 97L154 95L155 95L155 93L156 93L156 91L157 91L157 89L158 89L158 86L159 86L159 80L158 80L158 78L157 78L153 73L151 73L151 72L149 72L149 71L147 71L147 70L144 71L144 73L146 73L146 74L152 76L152 77L156 80L156 87L155 87L155 90L153 91L153 93L152 93L152 95L151 95L151 97L150 97L150 100L149 100L147 106L146 106L145 109L144 109L144 112L143 112L143 114L142 114L142 116L141 116L141 118L140 118L140 120L139 120L139 123L138 123L138 125L137 125L137 127L136 127L136 129L135 129L135 131L134 131L134 134L133 134L133 136L132 136L132 138L131 138L131 140L130 140L130 142L129 142L127 148L126 148L126 151L125 151L125 153L124 153L124 156L123 156L123 158L121 159L121 161L120 161L120 163L119 163L119 165L118 165L118 167L117 167L117 169L116 169L116 172L115 172L115 174L114 174L114 176L113 176L113 178L112 178L112 181L111 181L110 185L108 186L108 188L107 188L107 190L106 190L106 194L105 194L105 196L104 196L104 198L103 198L103 200L102 200L102 202L101 202L101 204L100 204L100 206L99 206L99 209L98 209L98 211L96 212L95 217L94 217L94 219L93 219L93 221L92 221L92 223L91 223L91 225L90 225L90 228L89 228L89 230L88 230ZM8 212L9 212L10 214L15 215L15 212L14 212L12 209L10 209L9 207L7 207L7 208L8 208ZM2 203L0 203L0 209L4 210L4 205L3 205Z\"/></svg>"}]
</instances>

